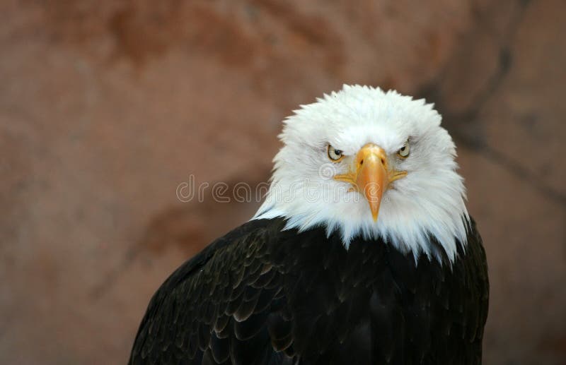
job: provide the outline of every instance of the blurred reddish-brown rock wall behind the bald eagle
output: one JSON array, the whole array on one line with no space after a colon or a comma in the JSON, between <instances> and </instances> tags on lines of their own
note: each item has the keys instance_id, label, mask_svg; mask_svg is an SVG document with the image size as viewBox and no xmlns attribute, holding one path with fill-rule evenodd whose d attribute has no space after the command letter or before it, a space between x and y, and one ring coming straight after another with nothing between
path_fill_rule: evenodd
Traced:
<instances>
[{"instance_id":1,"label":"blurred reddish-brown rock wall behind the bald eagle","mask_svg":"<svg viewBox=\"0 0 566 365\"><path fill-rule=\"evenodd\" d=\"M566 364L566 3L0 1L0 363L124 364L158 285L253 203L280 121L435 102L490 263L485 364Z\"/></svg>"}]
</instances>

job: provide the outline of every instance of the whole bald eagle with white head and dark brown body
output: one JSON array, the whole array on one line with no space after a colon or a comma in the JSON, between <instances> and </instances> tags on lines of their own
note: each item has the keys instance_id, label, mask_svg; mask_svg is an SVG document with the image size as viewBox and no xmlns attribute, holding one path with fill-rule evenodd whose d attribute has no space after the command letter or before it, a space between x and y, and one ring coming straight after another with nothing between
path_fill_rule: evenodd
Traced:
<instances>
[{"instance_id":1,"label":"whole bald eagle with white head and dark brown body","mask_svg":"<svg viewBox=\"0 0 566 365\"><path fill-rule=\"evenodd\" d=\"M301 106L258 213L161 285L129 364L480 364L487 263L440 124L359 85Z\"/></svg>"}]
</instances>

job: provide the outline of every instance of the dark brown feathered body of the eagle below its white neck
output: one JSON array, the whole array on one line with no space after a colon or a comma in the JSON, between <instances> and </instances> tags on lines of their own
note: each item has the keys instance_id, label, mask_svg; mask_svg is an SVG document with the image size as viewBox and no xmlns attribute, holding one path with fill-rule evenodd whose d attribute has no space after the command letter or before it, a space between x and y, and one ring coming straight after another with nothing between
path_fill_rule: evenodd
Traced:
<instances>
[{"instance_id":1,"label":"dark brown feathered body of the eagle below its white neck","mask_svg":"<svg viewBox=\"0 0 566 365\"><path fill-rule=\"evenodd\" d=\"M253 220L183 264L149 303L130 364L480 364L485 253L450 267L383 241Z\"/></svg>"}]
</instances>

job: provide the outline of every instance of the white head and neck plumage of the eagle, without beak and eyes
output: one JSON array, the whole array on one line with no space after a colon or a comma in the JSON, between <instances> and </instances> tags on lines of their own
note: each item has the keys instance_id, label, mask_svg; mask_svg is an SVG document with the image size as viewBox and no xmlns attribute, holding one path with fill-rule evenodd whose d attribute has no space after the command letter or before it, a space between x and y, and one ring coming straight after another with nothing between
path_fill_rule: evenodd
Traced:
<instances>
[{"instance_id":1,"label":"white head and neck plumage of the eagle, without beak and eyes","mask_svg":"<svg viewBox=\"0 0 566 365\"><path fill-rule=\"evenodd\" d=\"M288 229L323 226L329 235L339 230L346 247L357 236L382 238L415 259L420 253L439 258L432 235L454 261L456 240L466 244L466 190L456 172L455 145L432 104L391 90L344 85L294 113L284 121L279 136L284 146L253 219L285 217ZM408 138L410 155L401 160L396 153ZM361 193L332 179L348 166L330 162L326 150L330 144L355 155L366 143L379 145L394 167L407 171L383 193L376 222Z\"/></svg>"}]
</instances>

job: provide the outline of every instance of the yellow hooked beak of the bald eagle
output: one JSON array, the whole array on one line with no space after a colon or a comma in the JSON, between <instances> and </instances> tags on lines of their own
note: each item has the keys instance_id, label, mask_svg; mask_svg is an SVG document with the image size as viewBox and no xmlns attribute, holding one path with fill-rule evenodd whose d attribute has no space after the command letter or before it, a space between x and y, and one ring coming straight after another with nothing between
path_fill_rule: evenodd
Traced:
<instances>
[{"instance_id":1,"label":"yellow hooked beak of the bald eagle","mask_svg":"<svg viewBox=\"0 0 566 365\"><path fill-rule=\"evenodd\" d=\"M334 176L335 180L352 184L352 191L359 191L369 203L374 222L379 214L381 197L391 182L407 175L406 171L389 169L387 154L383 148L368 143L357 153L350 172Z\"/></svg>"}]
</instances>

